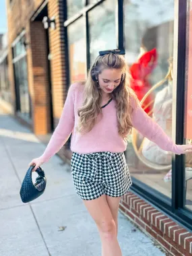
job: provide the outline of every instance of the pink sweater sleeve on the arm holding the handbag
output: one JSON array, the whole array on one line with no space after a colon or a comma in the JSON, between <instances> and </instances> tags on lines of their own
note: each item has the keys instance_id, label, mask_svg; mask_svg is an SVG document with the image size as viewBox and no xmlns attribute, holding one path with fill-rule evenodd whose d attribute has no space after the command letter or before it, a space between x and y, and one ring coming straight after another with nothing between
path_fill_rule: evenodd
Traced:
<instances>
[{"instance_id":1,"label":"pink sweater sleeve on the arm holding the handbag","mask_svg":"<svg viewBox=\"0 0 192 256\"><path fill-rule=\"evenodd\" d=\"M74 90L75 84L69 88L67 98L59 119L59 123L51 136L51 139L40 158L43 162L47 162L53 155L55 155L65 144L69 135L73 131L75 114L74 114Z\"/></svg>"}]
</instances>

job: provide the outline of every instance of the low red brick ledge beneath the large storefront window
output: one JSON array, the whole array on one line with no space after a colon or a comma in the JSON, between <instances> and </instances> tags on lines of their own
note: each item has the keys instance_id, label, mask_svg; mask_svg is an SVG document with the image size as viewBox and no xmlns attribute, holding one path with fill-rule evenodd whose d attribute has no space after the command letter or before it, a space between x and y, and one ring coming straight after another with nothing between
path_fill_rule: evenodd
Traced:
<instances>
[{"instance_id":1,"label":"low red brick ledge beneath the large storefront window","mask_svg":"<svg viewBox=\"0 0 192 256\"><path fill-rule=\"evenodd\" d=\"M192 255L192 233L132 192L121 197L119 209L150 235L168 255Z\"/></svg>"}]
</instances>

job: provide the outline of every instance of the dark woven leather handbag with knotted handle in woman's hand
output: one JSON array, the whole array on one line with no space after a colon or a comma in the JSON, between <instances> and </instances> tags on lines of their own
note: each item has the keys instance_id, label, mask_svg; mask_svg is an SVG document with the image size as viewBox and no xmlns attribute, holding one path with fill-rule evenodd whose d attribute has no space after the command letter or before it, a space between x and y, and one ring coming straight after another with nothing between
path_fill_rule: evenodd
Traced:
<instances>
[{"instance_id":1,"label":"dark woven leather handbag with knotted handle in woman's hand","mask_svg":"<svg viewBox=\"0 0 192 256\"><path fill-rule=\"evenodd\" d=\"M30 166L30 168L28 168L20 189L20 197L23 203L28 203L29 201L32 201L42 195L46 187L46 177L44 177L44 171L40 167L36 169L38 177L36 178L35 183L32 182L33 168L34 166Z\"/></svg>"}]
</instances>

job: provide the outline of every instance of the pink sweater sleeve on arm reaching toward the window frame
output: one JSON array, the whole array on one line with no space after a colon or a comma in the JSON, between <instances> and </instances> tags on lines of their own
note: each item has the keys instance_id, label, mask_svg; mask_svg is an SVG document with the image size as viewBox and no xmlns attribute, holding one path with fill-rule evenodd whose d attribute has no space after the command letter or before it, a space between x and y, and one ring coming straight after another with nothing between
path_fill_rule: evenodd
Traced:
<instances>
[{"instance_id":1,"label":"pink sweater sleeve on arm reaching toward the window frame","mask_svg":"<svg viewBox=\"0 0 192 256\"><path fill-rule=\"evenodd\" d=\"M141 108L140 104L133 108L132 125L143 136L156 143L162 150L181 154L179 146L176 145L163 129L158 125L146 112Z\"/></svg>"}]
</instances>

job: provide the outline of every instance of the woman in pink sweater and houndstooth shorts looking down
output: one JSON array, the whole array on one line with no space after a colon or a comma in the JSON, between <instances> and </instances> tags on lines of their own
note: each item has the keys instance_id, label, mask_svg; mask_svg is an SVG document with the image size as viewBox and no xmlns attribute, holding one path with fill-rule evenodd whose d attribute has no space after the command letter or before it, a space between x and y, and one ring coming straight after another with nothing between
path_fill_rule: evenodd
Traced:
<instances>
[{"instance_id":1,"label":"woman in pink sweater and houndstooth shorts looking down","mask_svg":"<svg viewBox=\"0 0 192 256\"><path fill-rule=\"evenodd\" d=\"M117 215L121 195L132 184L123 154L131 127L163 150L192 152L192 146L174 144L139 106L129 88L127 63L121 54L125 53L100 52L86 82L70 86L59 124L44 154L30 162L36 170L59 151L72 132L73 182L98 227L102 256L122 255Z\"/></svg>"}]
</instances>

